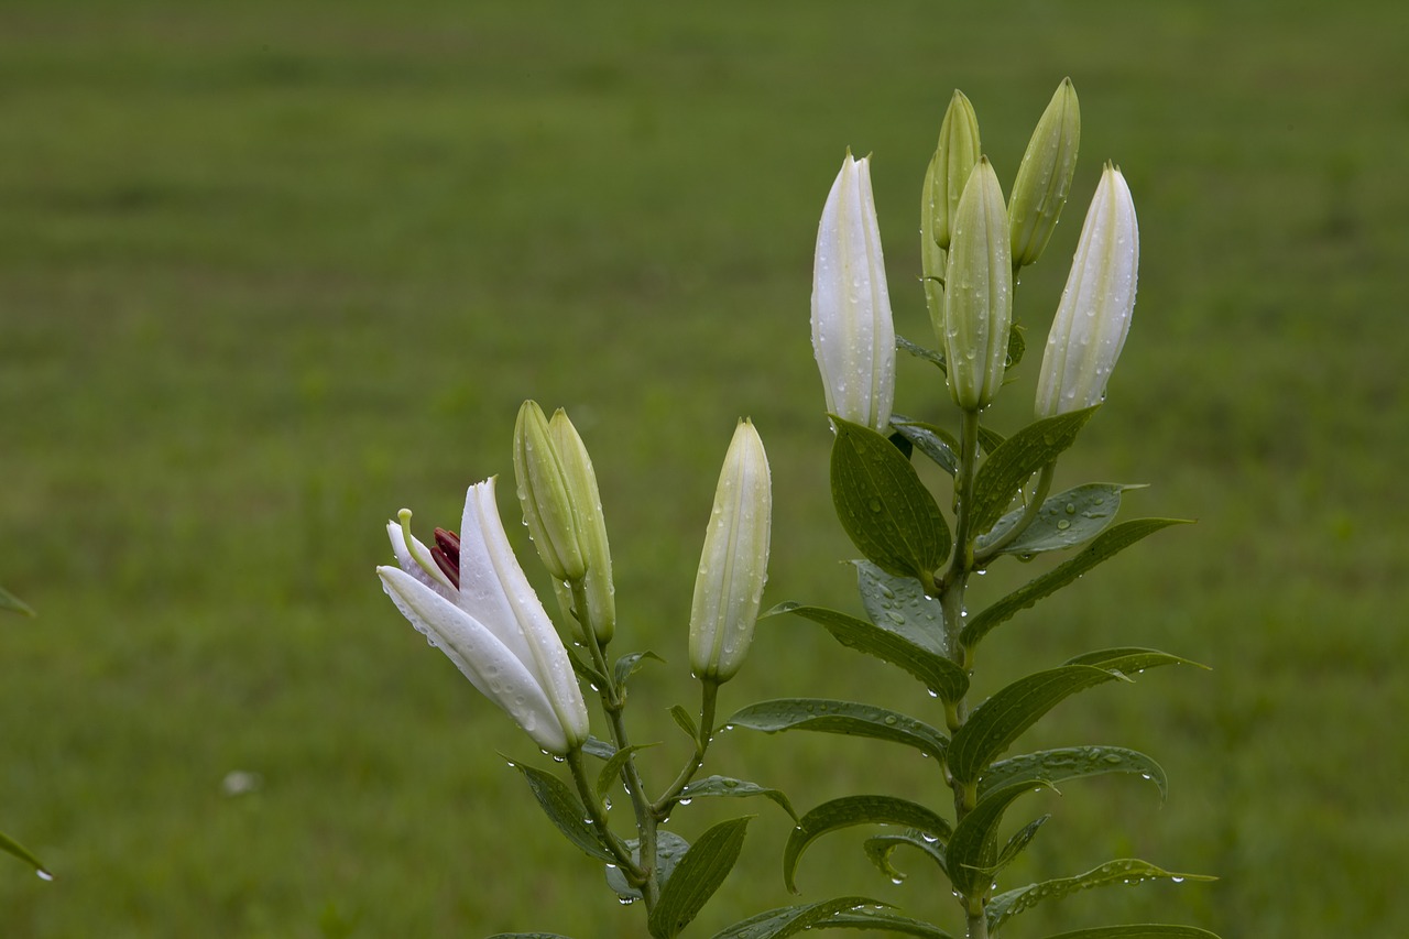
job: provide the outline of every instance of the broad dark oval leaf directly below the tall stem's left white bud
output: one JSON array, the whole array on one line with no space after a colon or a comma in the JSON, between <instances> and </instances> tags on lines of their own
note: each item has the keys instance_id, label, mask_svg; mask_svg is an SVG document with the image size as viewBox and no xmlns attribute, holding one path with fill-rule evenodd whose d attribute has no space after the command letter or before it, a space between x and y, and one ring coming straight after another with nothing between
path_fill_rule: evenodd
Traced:
<instances>
[{"instance_id":1,"label":"broad dark oval leaf directly below the tall stem's left white bud","mask_svg":"<svg viewBox=\"0 0 1409 939\"><path fill-rule=\"evenodd\" d=\"M831 420L831 499L847 536L883 571L934 572L948 557L950 529L914 467L869 427Z\"/></svg>"}]
</instances>

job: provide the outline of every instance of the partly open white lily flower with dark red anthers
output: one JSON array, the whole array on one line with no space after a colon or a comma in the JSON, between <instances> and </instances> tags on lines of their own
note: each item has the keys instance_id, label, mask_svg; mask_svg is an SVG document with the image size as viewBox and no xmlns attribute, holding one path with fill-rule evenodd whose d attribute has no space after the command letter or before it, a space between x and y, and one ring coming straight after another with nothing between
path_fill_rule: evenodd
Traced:
<instances>
[{"instance_id":1,"label":"partly open white lily flower with dark red anthers","mask_svg":"<svg viewBox=\"0 0 1409 939\"><path fill-rule=\"evenodd\" d=\"M387 596L486 698L558 756L588 739L572 663L524 577L495 502L495 479L469 488L457 539L437 529L427 548L411 513L387 524L397 567L379 567Z\"/></svg>"}]
</instances>

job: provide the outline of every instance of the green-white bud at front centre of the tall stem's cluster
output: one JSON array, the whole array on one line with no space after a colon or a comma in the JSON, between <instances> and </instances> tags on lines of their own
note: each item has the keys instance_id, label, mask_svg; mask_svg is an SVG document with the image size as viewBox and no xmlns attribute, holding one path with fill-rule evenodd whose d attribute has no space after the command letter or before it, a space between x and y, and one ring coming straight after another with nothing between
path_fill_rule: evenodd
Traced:
<instances>
[{"instance_id":1,"label":"green-white bud at front centre of the tall stem's cluster","mask_svg":"<svg viewBox=\"0 0 1409 939\"><path fill-rule=\"evenodd\" d=\"M964 186L944 275L940 343L950 396L965 410L986 407L1003 383L1012 286L1007 206L998 173L985 156Z\"/></svg>"}]
</instances>

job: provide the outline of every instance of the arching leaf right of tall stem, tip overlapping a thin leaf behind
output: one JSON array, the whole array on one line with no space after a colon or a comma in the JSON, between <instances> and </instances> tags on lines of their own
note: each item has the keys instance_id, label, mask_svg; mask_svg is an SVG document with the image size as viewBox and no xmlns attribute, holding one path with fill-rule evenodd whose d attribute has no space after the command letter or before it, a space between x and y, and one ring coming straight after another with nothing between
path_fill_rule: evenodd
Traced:
<instances>
[{"instance_id":1,"label":"arching leaf right of tall stem, tip overlapping a thin leaf behind","mask_svg":"<svg viewBox=\"0 0 1409 939\"><path fill-rule=\"evenodd\" d=\"M1095 665L1061 665L1019 678L981 704L950 740L950 773L958 782L976 782L993 757L1064 698L1116 675Z\"/></svg>"}]
</instances>

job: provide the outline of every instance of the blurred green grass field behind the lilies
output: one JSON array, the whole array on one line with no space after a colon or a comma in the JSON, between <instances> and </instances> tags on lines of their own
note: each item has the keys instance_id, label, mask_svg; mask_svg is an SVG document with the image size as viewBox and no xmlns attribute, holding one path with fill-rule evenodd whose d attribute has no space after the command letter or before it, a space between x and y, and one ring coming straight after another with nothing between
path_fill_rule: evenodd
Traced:
<instances>
[{"instance_id":1,"label":"blurred green grass field behind the lilies","mask_svg":"<svg viewBox=\"0 0 1409 939\"><path fill-rule=\"evenodd\" d=\"M634 698L664 785L737 416L775 474L766 599L855 608L807 333L844 148L875 156L898 329L924 341L917 195L951 90L1006 186L1069 75L1082 165L1019 290L1034 345L1105 159L1144 251L1110 400L1058 485L1151 482L1127 512L1199 524L1005 626L978 688L1100 646L1212 664L1030 735L1146 749L1172 790L1034 798L1055 818L1014 878L1130 854L1222 880L1084 894L1009 933L1409 935L1409 14L1346 10L7 0L0 584L41 616L0 619L0 829L58 880L0 857L0 933L641 935L504 766L531 743L382 595L382 526L403 505L457 524L469 482L511 472L519 402L566 406L603 486L620 651L671 660ZM995 426L1024 420L1037 360ZM900 382L902 410L945 419L930 369ZM768 620L721 708L788 694L930 708ZM800 808L940 787L862 742L735 732L713 753ZM690 935L790 900L789 823L747 808L741 867ZM805 900L954 922L921 861L893 887L859 840L813 849Z\"/></svg>"}]
</instances>

